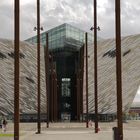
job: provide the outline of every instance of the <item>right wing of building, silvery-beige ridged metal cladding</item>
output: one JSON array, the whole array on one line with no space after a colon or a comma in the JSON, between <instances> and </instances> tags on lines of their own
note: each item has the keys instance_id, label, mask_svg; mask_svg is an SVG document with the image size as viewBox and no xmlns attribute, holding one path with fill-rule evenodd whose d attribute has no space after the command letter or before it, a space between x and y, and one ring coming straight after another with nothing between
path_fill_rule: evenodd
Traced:
<instances>
[{"instance_id":1,"label":"right wing of building, silvery-beige ridged metal cladding","mask_svg":"<svg viewBox=\"0 0 140 140\"><path fill-rule=\"evenodd\" d=\"M116 96L116 51L115 40L98 42L98 111L112 114L117 111ZM88 46L89 63L89 113L94 113L94 46ZM85 68L84 68L85 69ZM85 74L84 74L85 78ZM84 113L85 80L84 80ZM127 112L140 85L140 35L122 38L122 96L123 111Z\"/></svg>"}]
</instances>

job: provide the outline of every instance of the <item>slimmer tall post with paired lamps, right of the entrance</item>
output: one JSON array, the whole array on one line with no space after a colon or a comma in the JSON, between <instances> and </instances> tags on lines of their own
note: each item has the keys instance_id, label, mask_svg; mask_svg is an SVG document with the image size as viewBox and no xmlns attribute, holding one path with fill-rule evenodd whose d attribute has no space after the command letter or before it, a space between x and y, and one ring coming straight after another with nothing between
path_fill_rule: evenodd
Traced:
<instances>
[{"instance_id":1,"label":"slimmer tall post with paired lamps, right of the entrance","mask_svg":"<svg viewBox=\"0 0 140 140\"><path fill-rule=\"evenodd\" d=\"M94 98L95 133L98 133L98 81L97 81L97 1L94 0Z\"/></svg>"}]
</instances>

